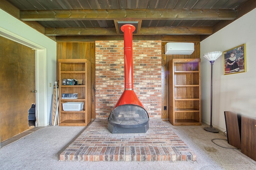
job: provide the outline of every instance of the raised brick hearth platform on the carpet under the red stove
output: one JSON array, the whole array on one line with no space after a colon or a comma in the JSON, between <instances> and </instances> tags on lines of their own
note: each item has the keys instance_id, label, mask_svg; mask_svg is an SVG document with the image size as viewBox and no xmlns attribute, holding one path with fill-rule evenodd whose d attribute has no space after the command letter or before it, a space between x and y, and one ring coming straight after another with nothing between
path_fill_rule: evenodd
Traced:
<instances>
[{"instance_id":1,"label":"raised brick hearth platform on the carpet under the red stove","mask_svg":"<svg viewBox=\"0 0 256 170\"><path fill-rule=\"evenodd\" d=\"M61 154L62 161L196 161L196 154L162 120L146 133L112 134L96 119Z\"/></svg>"}]
</instances>

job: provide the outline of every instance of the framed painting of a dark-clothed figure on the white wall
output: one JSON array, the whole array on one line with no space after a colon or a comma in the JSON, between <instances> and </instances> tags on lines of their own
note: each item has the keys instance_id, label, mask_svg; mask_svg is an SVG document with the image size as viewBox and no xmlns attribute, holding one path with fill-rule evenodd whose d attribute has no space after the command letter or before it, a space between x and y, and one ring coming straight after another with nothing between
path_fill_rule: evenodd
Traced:
<instances>
[{"instance_id":1,"label":"framed painting of a dark-clothed figure on the white wall","mask_svg":"<svg viewBox=\"0 0 256 170\"><path fill-rule=\"evenodd\" d=\"M246 72L245 44L223 52L224 75Z\"/></svg>"}]
</instances>

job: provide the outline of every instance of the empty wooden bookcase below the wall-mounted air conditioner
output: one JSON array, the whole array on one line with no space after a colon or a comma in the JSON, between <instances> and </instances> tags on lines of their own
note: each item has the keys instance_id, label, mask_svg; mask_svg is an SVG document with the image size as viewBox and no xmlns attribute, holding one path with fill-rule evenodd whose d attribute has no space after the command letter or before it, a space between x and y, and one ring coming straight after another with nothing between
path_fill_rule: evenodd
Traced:
<instances>
[{"instance_id":1,"label":"empty wooden bookcase below the wall-mounted air conditioner","mask_svg":"<svg viewBox=\"0 0 256 170\"><path fill-rule=\"evenodd\" d=\"M169 121L201 125L200 59L172 59L168 64Z\"/></svg>"}]
</instances>

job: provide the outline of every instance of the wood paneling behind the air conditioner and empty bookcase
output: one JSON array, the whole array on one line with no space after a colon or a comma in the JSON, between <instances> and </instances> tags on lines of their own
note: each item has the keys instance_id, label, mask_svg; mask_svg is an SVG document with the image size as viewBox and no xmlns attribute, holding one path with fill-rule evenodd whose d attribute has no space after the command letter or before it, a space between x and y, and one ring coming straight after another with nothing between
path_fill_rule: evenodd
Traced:
<instances>
[{"instance_id":1,"label":"wood paneling behind the air conditioner and empty bookcase","mask_svg":"<svg viewBox=\"0 0 256 170\"><path fill-rule=\"evenodd\" d=\"M168 121L168 63L172 59L200 58L200 42L192 42L195 45L195 51L191 55L165 55L166 43L162 42L162 119ZM166 110L164 110L164 106L166 106Z\"/></svg>"}]
</instances>

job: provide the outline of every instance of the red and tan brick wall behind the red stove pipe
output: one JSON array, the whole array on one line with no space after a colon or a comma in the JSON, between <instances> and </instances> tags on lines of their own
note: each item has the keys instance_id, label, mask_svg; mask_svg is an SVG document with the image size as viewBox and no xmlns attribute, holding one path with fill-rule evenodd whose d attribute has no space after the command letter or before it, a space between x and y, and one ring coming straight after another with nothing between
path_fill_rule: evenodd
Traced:
<instances>
[{"instance_id":1,"label":"red and tan brick wall behind the red stove pipe","mask_svg":"<svg viewBox=\"0 0 256 170\"><path fill-rule=\"evenodd\" d=\"M96 41L96 119L108 119L124 91L124 41ZM134 92L161 119L161 41L133 41Z\"/></svg>"}]
</instances>

